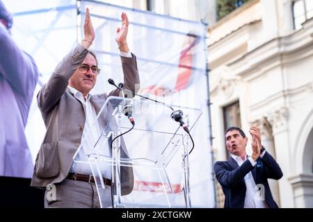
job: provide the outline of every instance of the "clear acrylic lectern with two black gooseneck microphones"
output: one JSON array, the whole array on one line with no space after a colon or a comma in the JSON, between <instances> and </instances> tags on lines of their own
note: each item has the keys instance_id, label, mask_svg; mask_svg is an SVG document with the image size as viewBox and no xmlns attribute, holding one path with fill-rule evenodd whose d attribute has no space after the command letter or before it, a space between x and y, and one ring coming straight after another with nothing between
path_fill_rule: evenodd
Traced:
<instances>
[{"instance_id":1,"label":"clear acrylic lectern with two black gooseneck microphones","mask_svg":"<svg viewBox=\"0 0 313 222\"><path fill-rule=\"evenodd\" d=\"M134 128L124 114L132 108ZM81 140L74 164L90 169L102 207L191 207L191 138L170 115L182 110L191 131L201 110L110 96ZM104 178L111 180L111 187ZM107 189L110 189L108 192ZM111 205L112 207L112 205Z\"/></svg>"}]
</instances>

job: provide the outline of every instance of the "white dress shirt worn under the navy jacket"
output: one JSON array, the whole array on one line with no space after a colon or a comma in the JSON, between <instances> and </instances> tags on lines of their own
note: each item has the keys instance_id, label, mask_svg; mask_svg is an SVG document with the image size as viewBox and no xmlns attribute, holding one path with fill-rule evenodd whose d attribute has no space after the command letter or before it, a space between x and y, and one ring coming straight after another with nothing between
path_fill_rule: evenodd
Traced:
<instances>
[{"instance_id":1,"label":"white dress shirt worn under the navy jacket","mask_svg":"<svg viewBox=\"0 0 313 222\"><path fill-rule=\"evenodd\" d=\"M261 158L264 156L265 152L266 151L264 151L262 155L260 155ZM255 167L255 165L257 164L257 162L255 162L255 160L253 160L252 157L249 157L248 155L245 156L245 160L242 160L241 157L237 155L231 154L231 156L237 162L239 167L243 164L243 162L247 160L247 158L253 167ZM251 171L246 174L246 176L244 177L244 180L246 184L246 196L245 196L245 203L243 207L244 208L267 208L266 202L259 200L259 198L257 198L257 191L259 191L259 189L257 189L255 185L255 180L253 179Z\"/></svg>"}]
</instances>

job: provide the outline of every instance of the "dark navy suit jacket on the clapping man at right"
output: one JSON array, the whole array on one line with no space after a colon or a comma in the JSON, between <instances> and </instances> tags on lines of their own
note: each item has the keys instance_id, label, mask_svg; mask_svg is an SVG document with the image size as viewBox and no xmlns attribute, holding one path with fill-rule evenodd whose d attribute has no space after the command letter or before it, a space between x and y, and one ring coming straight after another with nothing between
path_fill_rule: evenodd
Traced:
<instances>
[{"instance_id":1,"label":"dark navy suit jacket on the clapping man at right","mask_svg":"<svg viewBox=\"0 0 313 222\"><path fill-rule=\"evenodd\" d=\"M282 178L282 170L274 158L266 151L264 156L257 158L257 164L252 167L249 160L239 167L236 160L230 157L227 161L218 161L214 164L216 179L223 188L225 194L224 207L242 208L246 196L246 184L244 177L252 171L255 184L262 184L265 188L265 201L270 208L278 208L273 200L268 186L268 178L279 180Z\"/></svg>"}]
</instances>

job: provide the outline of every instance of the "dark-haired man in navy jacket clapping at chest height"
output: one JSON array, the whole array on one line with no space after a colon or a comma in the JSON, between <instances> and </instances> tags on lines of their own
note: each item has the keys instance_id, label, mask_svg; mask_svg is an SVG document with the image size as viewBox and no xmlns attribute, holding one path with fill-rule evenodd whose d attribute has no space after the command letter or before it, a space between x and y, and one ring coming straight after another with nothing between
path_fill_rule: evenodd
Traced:
<instances>
[{"instance_id":1,"label":"dark-haired man in navy jacket clapping at chest height","mask_svg":"<svg viewBox=\"0 0 313 222\"><path fill-rule=\"evenodd\" d=\"M246 154L248 138L241 128L226 130L226 146L231 157L214 164L216 179L225 194L227 208L278 208L268 178L279 180L282 170L261 144L259 128L251 127L252 155Z\"/></svg>"}]
</instances>

